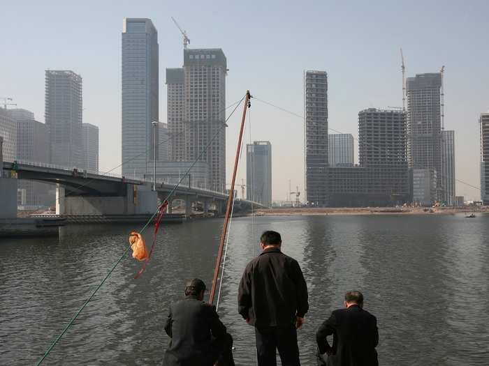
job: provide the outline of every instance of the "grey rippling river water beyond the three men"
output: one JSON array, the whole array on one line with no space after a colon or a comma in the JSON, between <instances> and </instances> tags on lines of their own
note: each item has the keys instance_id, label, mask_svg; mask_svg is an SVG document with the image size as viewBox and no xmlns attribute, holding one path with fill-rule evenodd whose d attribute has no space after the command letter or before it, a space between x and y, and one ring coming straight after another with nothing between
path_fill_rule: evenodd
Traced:
<instances>
[{"instance_id":1,"label":"grey rippling river water beyond the three men","mask_svg":"<svg viewBox=\"0 0 489 366\"><path fill-rule=\"evenodd\" d=\"M310 310L299 331L303 365L314 333L344 292L359 289L379 321L382 365L487 365L489 216L235 218L219 314L235 338L238 365L254 365L254 330L237 312L238 283L265 229L298 259ZM222 220L163 228L138 280L128 257L50 354L47 364L161 365L163 323L184 283L210 287ZM63 227L59 240L0 239L0 364L35 362L119 258L128 225ZM148 242L151 232L145 233Z\"/></svg>"}]
</instances>

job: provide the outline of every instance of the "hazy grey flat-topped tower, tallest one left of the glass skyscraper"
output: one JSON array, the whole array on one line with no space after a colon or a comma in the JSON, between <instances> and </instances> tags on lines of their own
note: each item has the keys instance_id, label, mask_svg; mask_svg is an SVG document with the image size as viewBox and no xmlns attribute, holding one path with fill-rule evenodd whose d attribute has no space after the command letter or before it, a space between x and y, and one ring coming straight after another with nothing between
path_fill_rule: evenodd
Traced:
<instances>
[{"instance_id":1,"label":"hazy grey flat-topped tower, tallest one left of the glass skyscraper","mask_svg":"<svg viewBox=\"0 0 489 366\"><path fill-rule=\"evenodd\" d=\"M82 164L82 77L70 70L45 72L45 123L50 162L64 167Z\"/></svg>"}]
</instances>

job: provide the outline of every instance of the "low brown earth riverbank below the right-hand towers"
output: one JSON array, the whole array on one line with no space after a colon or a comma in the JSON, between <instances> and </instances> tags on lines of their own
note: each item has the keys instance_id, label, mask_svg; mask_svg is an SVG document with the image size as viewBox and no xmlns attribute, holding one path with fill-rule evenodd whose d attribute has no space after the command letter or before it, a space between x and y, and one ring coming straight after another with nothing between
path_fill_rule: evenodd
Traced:
<instances>
[{"instance_id":1,"label":"low brown earth riverbank below the right-hand towers","mask_svg":"<svg viewBox=\"0 0 489 366\"><path fill-rule=\"evenodd\" d=\"M455 213L489 213L489 207L287 207L258 208L255 215L259 216L291 216L291 215L455 215Z\"/></svg>"}]
</instances>

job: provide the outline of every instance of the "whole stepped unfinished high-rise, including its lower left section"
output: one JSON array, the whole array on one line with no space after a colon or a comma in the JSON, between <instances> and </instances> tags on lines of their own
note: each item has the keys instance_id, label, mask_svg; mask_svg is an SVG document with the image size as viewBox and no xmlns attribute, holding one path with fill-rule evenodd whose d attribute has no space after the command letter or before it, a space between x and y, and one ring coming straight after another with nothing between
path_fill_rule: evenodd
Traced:
<instances>
[{"instance_id":1,"label":"whole stepped unfinished high-rise, including its lower left section","mask_svg":"<svg viewBox=\"0 0 489 366\"><path fill-rule=\"evenodd\" d=\"M222 49L184 49L183 68L166 70L171 161L206 162L206 187L226 190L226 75Z\"/></svg>"}]
</instances>

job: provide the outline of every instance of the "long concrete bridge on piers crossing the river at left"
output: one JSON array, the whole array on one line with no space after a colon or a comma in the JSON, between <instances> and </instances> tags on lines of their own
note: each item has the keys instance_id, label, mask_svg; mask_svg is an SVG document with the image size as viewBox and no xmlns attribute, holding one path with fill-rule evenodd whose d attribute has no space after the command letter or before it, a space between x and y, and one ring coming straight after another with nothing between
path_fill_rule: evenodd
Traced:
<instances>
[{"instance_id":1,"label":"long concrete bridge on piers crossing the river at left","mask_svg":"<svg viewBox=\"0 0 489 366\"><path fill-rule=\"evenodd\" d=\"M118 174L95 173L76 168L68 169L57 165L38 162L0 162L1 195L15 196L15 215L17 214L17 178L54 183L56 191L56 213L58 215L140 215L154 213L159 202L168 199L168 211L172 212L173 201L185 202L186 215L191 214L192 206L201 207L203 213L212 210L218 215L226 208L228 195L189 184L175 185L156 182L156 191L152 190L152 182L125 178ZM7 182L10 181L10 182ZM15 183L14 183L15 181ZM8 183L8 187L7 187ZM13 187L15 185L15 188ZM6 193L9 190L10 193ZM10 197L11 198L11 197ZM2 200L8 199L3 197ZM12 206L10 204L10 206ZM251 208L263 207L257 202L236 200L235 208L247 211Z\"/></svg>"}]
</instances>

